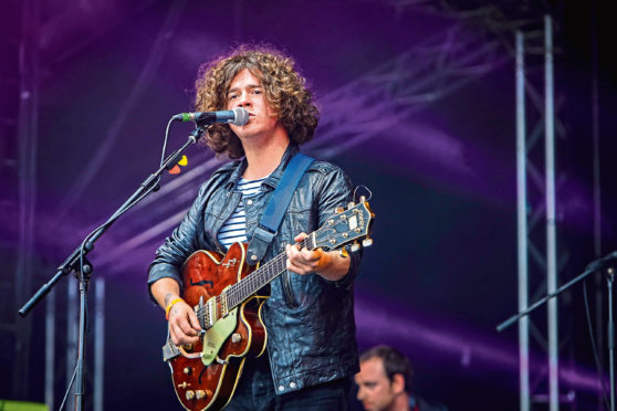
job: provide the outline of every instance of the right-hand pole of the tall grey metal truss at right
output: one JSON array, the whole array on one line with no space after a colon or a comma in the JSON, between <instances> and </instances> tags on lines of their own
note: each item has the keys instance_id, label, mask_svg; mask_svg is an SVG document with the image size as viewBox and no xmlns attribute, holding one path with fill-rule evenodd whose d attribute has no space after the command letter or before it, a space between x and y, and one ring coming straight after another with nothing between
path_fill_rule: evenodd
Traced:
<instances>
[{"instance_id":1,"label":"right-hand pole of the tall grey metal truss at right","mask_svg":"<svg viewBox=\"0 0 617 411\"><path fill-rule=\"evenodd\" d=\"M555 112L553 84L553 25L544 17L544 124L546 167L546 291L557 289L557 238L555 229ZM560 409L557 298L548 302L548 386L550 410Z\"/></svg>"}]
</instances>

